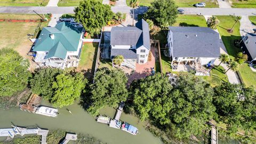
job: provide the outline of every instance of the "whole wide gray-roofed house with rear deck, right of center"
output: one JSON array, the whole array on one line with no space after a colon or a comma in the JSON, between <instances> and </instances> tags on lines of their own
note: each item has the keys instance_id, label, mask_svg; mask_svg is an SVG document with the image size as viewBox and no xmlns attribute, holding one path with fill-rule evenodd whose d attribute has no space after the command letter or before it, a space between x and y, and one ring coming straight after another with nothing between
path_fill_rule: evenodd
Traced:
<instances>
[{"instance_id":1,"label":"whole wide gray-roofed house with rear deck, right of center","mask_svg":"<svg viewBox=\"0 0 256 144\"><path fill-rule=\"evenodd\" d=\"M173 71L194 69L196 75L210 75L220 56L219 34L207 27L169 27L167 43Z\"/></svg>"}]
</instances>

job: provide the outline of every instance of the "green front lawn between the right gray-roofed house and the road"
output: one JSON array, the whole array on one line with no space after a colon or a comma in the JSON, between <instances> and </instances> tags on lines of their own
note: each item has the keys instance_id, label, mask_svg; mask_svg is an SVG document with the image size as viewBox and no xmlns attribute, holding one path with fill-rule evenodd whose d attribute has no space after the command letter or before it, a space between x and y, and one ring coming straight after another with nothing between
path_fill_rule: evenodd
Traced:
<instances>
[{"instance_id":1,"label":"green front lawn between the right gray-roofed house and the road","mask_svg":"<svg viewBox=\"0 0 256 144\"><path fill-rule=\"evenodd\" d=\"M185 27L207 27L203 15L183 15L179 14L177 22L172 26L185 26Z\"/></svg>"}]
</instances>

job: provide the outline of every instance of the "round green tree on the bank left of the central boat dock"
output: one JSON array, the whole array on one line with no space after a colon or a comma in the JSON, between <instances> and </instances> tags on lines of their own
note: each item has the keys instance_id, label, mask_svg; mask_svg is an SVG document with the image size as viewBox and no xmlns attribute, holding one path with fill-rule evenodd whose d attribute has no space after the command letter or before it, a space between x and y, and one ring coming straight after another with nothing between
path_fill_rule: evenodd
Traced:
<instances>
[{"instance_id":1,"label":"round green tree on the bank left of the central boat dock","mask_svg":"<svg viewBox=\"0 0 256 144\"><path fill-rule=\"evenodd\" d=\"M99 69L91 85L91 105L87 111L97 115L105 106L117 107L127 99L127 77L120 69Z\"/></svg>"}]
</instances>

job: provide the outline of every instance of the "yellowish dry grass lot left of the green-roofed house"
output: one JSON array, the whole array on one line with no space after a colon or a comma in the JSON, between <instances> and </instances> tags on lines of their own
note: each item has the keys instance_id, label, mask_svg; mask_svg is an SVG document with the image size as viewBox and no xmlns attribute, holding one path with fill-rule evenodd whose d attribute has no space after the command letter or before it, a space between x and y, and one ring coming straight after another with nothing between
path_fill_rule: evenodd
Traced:
<instances>
[{"instance_id":1,"label":"yellowish dry grass lot left of the green-roofed house","mask_svg":"<svg viewBox=\"0 0 256 144\"><path fill-rule=\"evenodd\" d=\"M0 19L39 19L36 14L0 14ZM43 22L42 27L47 26L48 22ZM2 47L8 47L18 51L24 58L29 59L31 56L27 53L31 49L33 44L27 34L34 34L39 22L0 22L0 49ZM35 34L37 35L37 33ZM35 63L34 63L35 64Z\"/></svg>"}]
</instances>

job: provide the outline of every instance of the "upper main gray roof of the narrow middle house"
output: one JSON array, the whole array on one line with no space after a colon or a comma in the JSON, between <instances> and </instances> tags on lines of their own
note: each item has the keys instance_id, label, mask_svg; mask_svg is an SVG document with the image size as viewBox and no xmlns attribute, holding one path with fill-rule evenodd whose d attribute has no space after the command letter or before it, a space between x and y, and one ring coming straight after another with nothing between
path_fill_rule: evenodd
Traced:
<instances>
[{"instance_id":1,"label":"upper main gray roof of the narrow middle house","mask_svg":"<svg viewBox=\"0 0 256 144\"><path fill-rule=\"evenodd\" d=\"M136 23L136 27L113 27L111 29L111 45L144 45L150 49L149 26L145 20Z\"/></svg>"}]
</instances>

